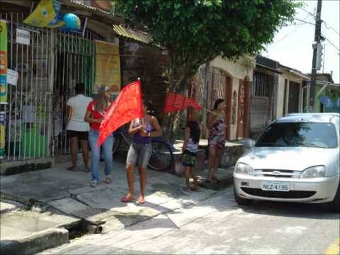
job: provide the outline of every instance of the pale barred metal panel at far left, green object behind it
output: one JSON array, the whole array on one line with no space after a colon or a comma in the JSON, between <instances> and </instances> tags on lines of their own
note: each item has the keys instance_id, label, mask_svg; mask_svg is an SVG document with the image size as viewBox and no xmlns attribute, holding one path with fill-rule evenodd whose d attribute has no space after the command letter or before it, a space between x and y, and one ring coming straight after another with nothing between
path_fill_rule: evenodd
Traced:
<instances>
[{"instance_id":1,"label":"pale barred metal panel at far left, green object behind it","mask_svg":"<svg viewBox=\"0 0 340 255\"><path fill-rule=\"evenodd\" d=\"M24 26L24 13L0 13L7 21L8 69L18 72L16 85L8 84L5 160L47 156L47 120L50 113L51 31ZM17 42L16 29L30 33L29 45Z\"/></svg>"}]
</instances>

